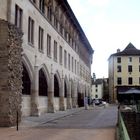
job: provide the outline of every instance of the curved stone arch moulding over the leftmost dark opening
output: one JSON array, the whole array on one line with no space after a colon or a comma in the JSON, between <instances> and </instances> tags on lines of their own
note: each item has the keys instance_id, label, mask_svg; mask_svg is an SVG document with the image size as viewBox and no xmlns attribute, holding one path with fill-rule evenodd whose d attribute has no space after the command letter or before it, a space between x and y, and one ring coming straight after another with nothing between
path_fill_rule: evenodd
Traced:
<instances>
[{"instance_id":1,"label":"curved stone arch moulding over the leftmost dark opening","mask_svg":"<svg viewBox=\"0 0 140 140\"><path fill-rule=\"evenodd\" d=\"M26 54L23 54L23 55L22 55L22 63L23 63L24 66L26 67L26 70L28 71L30 80L31 80L31 82L32 82L32 80L33 80L33 71L34 71L34 70L33 70L33 67L32 67L32 65L31 65L31 63L30 63L30 61L29 61L29 59L28 59L28 57L27 57Z\"/></svg>"}]
</instances>

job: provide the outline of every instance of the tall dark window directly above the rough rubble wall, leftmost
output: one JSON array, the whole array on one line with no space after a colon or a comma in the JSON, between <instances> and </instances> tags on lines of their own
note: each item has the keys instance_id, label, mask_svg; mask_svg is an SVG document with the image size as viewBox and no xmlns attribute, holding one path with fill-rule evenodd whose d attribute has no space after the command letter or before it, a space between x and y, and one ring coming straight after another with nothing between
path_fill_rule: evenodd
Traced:
<instances>
[{"instance_id":1,"label":"tall dark window directly above the rough rubble wall, leftmost","mask_svg":"<svg viewBox=\"0 0 140 140\"><path fill-rule=\"evenodd\" d=\"M22 29L22 14L22 9L18 5L15 5L15 25L20 29Z\"/></svg>"}]
</instances>

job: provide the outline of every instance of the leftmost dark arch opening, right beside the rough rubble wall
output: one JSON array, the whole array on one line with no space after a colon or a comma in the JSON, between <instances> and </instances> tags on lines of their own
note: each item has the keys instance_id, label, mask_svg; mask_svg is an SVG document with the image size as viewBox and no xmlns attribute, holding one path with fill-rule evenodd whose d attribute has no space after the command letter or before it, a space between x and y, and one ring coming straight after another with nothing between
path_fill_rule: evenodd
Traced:
<instances>
[{"instance_id":1,"label":"leftmost dark arch opening, right beside the rough rubble wall","mask_svg":"<svg viewBox=\"0 0 140 140\"><path fill-rule=\"evenodd\" d=\"M23 71L22 71L22 94L24 95L31 94L31 80L24 64L23 64Z\"/></svg>"}]
</instances>

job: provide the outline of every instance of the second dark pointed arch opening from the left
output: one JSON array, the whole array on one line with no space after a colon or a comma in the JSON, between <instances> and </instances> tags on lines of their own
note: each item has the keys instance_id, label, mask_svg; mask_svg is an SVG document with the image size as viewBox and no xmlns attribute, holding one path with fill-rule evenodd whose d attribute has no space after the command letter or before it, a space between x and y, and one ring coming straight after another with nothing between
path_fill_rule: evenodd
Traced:
<instances>
[{"instance_id":1,"label":"second dark pointed arch opening from the left","mask_svg":"<svg viewBox=\"0 0 140 140\"><path fill-rule=\"evenodd\" d=\"M40 96L48 95L48 84L42 69L39 70L39 95Z\"/></svg>"}]
</instances>

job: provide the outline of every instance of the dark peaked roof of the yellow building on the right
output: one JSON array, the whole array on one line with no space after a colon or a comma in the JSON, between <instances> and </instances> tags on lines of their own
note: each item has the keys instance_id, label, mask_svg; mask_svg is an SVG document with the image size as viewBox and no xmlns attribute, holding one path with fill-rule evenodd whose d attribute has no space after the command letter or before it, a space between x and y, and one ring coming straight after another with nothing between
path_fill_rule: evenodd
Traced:
<instances>
[{"instance_id":1,"label":"dark peaked roof of the yellow building on the right","mask_svg":"<svg viewBox=\"0 0 140 140\"><path fill-rule=\"evenodd\" d=\"M111 56L135 56L135 55L140 55L140 50L136 49L132 43L129 43L123 51L114 53Z\"/></svg>"}]
</instances>

